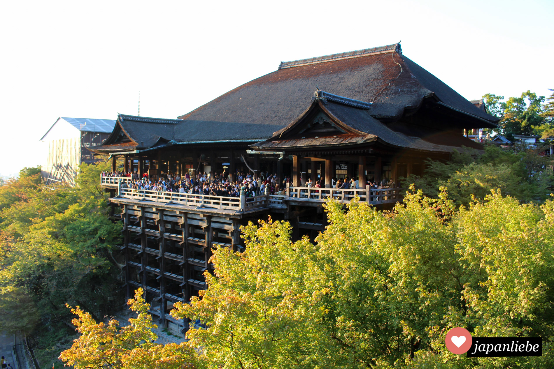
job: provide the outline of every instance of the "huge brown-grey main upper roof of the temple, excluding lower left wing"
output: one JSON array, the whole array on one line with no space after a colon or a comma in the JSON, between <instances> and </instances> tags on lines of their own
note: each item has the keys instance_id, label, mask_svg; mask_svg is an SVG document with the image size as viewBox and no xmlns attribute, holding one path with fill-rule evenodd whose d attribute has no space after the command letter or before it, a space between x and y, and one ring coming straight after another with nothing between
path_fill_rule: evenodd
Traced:
<instances>
[{"instance_id":1,"label":"huge brown-grey main upper roof of the temple, excluding lower left wing","mask_svg":"<svg viewBox=\"0 0 554 369\"><path fill-rule=\"evenodd\" d=\"M316 86L373 103L371 115L379 119L398 119L432 98L465 115L467 128L495 127L498 121L406 58L399 44L281 63L280 69L179 118L196 124L260 124L261 132L267 126L277 131L302 113Z\"/></svg>"}]
</instances>

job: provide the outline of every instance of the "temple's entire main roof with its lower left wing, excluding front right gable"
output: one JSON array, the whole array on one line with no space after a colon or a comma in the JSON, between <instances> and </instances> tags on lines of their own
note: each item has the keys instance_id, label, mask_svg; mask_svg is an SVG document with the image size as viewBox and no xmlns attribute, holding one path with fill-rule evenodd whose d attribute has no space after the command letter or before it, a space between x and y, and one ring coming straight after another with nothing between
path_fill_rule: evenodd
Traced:
<instances>
[{"instance_id":1,"label":"temple's entire main roof with its lower left wing, excluding front right gable","mask_svg":"<svg viewBox=\"0 0 554 369\"><path fill-rule=\"evenodd\" d=\"M119 142L122 147L117 150L127 150L130 145L123 136L134 143L134 150L161 144L260 142L301 116L316 86L332 92L325 92L332 103L367 110L366 121L371 117L395 122L407 114L433 111L441 119L431 124L448 131L493 128L498 120L406 58L400 44L393 44L281 63L278 70L178 119L119 115L110 138L94 149L109 152Z\"/></svg>"}]
</instances>

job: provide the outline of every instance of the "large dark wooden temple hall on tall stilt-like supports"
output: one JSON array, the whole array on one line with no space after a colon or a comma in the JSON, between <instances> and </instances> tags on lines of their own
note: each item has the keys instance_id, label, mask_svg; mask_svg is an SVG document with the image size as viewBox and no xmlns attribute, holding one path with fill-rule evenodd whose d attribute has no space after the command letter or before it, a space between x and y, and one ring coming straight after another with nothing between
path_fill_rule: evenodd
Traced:
<instances>
[{"instance_id":1,"label":"large dark wooden temple hall on tall stilt-like supports","mask_svg":"<svg viewBox=\"0 0 554 369\"><path fill-rule=\"evenodd\" d=\"M93 148L111 155L114 171L115 159L125 158L125 170L140 176L225 169L292 179L283 195L223 198L122 188L128 178L102 177L122 209L127 294L142 287L160 324L186 329L168 309L206 288L212 247L242 250L240 225L271 215L289 220L293 237L314 236L325 228L329 198L394 204L401 189L370 188L366 180L398 184L422 174L427 158L482 149L464 132L495 122L406 58L400 44L281 63L177 119L119 115ZM332 178L346 176L359 188L330 188ZM307 178L324 188L306 187Z\"/></svg>"}]
</instances>

